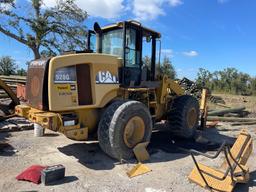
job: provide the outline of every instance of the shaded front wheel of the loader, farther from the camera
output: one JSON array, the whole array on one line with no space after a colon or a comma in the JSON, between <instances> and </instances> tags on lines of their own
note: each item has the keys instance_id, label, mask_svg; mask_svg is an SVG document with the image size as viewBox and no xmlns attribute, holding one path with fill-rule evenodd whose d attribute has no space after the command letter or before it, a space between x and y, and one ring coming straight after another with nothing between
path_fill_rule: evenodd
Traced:
<instances>
[{"instance_id":1,"label":"shaded front wheel of the loader, farther from the camera","mask_svg":"<svg viewBox=\"0 0 256 192\"><path fill-rule=\"evenodd\" d=\"M192 138L199 127L199 104L195 97L183 95L174 99L168 113L170 129L176 135Z\"/></svg>"}]
</instances>

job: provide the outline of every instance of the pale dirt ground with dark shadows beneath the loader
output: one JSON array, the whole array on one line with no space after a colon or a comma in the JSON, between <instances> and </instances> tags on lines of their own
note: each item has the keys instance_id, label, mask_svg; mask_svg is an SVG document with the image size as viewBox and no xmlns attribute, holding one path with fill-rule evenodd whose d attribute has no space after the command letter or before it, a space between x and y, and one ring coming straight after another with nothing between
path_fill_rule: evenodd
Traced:
<instances>
[{"instance_id":1,"label":"pale dirt ground with dark shadows beneath the loader","mask_svg":"<svg viewBox=\"0 0 256 192\"><path fill-rule=\"evenodd\" d=\"M208 128L202 133L210 141L207 144L155 132L148 147L150 160L146 163L152 172L132 179L126 175L126 171L135 161L124 164L114 161L100 150L97 141L76 142L49 130L44 137L34 137L33 130L0 133L0 140L7 141L7 145L0 146L0 191L205 191L188 180L187 175L194 164L189 154L181 152L177 146L213 154L222 141L232 144L242 128L252 134L255 146L256 125L231 127L228 123L219 123L217 127ZM238 184L235 192L256 191L255 155L254 150L248 161L250 182ZM214 167L223 161L223 156L214 161L202 156L196 158ZM15 179L21 171L35 164L62 164L66 167L66 177L50 186Z\"/></svg>"}]
</instances>

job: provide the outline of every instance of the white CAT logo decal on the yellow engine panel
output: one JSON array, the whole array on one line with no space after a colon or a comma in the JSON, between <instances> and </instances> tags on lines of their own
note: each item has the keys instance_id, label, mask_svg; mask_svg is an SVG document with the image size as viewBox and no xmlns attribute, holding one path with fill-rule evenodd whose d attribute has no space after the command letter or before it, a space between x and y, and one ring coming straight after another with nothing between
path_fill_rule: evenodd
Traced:
<instances>
[{"instance_id":1,"label":"white CAT logo decal on the yellow engine panel","mask_svg":"<svg viewBox=\"0 0 256 192\"><path fill-rule=\"evenodd\" d=\"M97 84L118 84L118 77L109 71L99 71L96 75Z\"/></svg>"}]
</instances>

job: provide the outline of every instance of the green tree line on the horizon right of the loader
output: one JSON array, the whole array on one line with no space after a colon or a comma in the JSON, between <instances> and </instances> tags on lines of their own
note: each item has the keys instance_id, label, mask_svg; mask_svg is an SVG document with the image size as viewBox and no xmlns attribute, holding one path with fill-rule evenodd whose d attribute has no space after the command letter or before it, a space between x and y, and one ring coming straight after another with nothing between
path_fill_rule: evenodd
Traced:
<instances>
[{"instance_id":1,"label":"green tree line on the horizon right of the loader","mask_svg":"<svg viewBox=\"0 0 256 192\"><path fill-rule=\"evenodd\" d=\"M249 74L232 67L214 72L200 68L196 83L213 92L256 95L256 77L251 77Z\"/></svg>"}]
</instances>

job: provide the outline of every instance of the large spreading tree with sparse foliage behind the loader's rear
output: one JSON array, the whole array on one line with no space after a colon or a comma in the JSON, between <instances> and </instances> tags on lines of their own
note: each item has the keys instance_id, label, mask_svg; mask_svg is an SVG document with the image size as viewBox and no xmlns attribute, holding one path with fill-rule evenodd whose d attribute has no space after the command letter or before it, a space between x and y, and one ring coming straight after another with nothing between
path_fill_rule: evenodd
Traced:
<instances>
[{"instance_id":1,"label":"large spreading tree with sparse foliage behind the loader's rear","mask_svg":"<svg viewBox=\"0 0 256 192\"><path fill-rule=\"evenodd\" d=\"M0 0L11 9L0 9L0 33L27 45L35 59L40 52L57 54L67 49L85 49L87 13L75 0L58 1L53 8L42 9L42 0L30 0L32 14L22 14L14 0ZM3 16L3 17L1 17Z\"/></svg>"}]
</instances>

